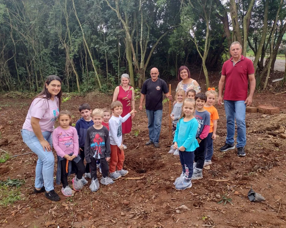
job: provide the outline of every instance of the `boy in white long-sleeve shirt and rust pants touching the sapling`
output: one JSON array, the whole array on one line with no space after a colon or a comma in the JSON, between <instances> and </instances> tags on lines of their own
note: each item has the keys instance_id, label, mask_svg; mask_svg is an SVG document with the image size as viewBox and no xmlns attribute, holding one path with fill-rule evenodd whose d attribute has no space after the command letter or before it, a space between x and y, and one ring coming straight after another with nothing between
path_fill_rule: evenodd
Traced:
<instances>
[{"instance_id":1,"label":"boy in white long-sleeve shirt and rust pants touching the sapling","mask_svg":"<svg viewBox=\"0 0 286 228\"><path fill-rule=\"evenodd\" d=\"M132 113L136 113L136 110L132 110L126 116L121 117L122 103L120 101L113 101L111 103L112 117L108 121L109 123L109 137L110 137L110 164L109 172L112 180L117 180L121 176L128 174L127 170L123 170L124 151L122 145L122 123L124 123ZM117 171L116 171L117 166Z\"/></svg>"}]
</instances>

